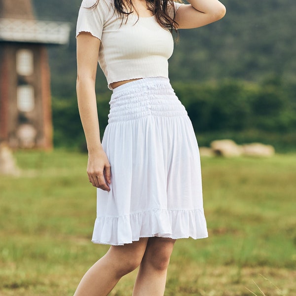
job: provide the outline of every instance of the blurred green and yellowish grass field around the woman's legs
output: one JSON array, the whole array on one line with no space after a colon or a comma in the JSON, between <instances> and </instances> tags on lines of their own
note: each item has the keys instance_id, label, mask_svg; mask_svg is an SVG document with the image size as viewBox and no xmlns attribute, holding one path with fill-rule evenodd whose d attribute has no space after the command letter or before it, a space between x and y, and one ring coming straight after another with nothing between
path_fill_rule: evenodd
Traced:
<instances>
[{"instance_id":1,"label":"blurred green and yellowish grass field around the woman's legs","mask_svg":"<svg viewBox=\"0 0 296 296\"><path fill-rule=\"evenodd\" d=\"M21 176L0 176L0 296L71 296L108 249L90 242L87 156L15 155ZM165 295L295 296L296 155L202 158L202 173L210 237L177 241ZM130 296L134 279L111 296Z\"/></svg>"}]
</instances>

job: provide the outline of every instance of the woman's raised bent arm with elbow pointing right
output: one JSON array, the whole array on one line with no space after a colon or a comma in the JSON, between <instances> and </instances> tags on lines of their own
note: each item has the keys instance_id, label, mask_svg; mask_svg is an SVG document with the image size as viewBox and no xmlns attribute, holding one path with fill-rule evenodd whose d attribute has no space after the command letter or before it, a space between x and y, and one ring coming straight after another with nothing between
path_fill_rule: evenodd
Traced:
<instances>
[{"instance_id":1,"label":"woman's raised bent arm with elbow pointing right","mask_svg":"<svg viewBox=\"0 0 296 296\"><path fill-rule=\"evenodd\" d=\"M187 0L190 4L181 5L175 20L179 29L192 29L216 22L225 15L226 8L218 0Z\"/></svg>"}]
</instances>

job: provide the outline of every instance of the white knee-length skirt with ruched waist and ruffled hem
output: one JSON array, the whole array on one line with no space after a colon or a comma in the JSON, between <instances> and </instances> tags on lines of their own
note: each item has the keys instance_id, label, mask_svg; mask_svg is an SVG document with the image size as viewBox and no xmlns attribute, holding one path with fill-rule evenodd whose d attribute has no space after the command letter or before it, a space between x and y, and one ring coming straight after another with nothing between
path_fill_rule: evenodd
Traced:
<instances>
[{"instance_id":1,"label":"white knee-length skirt with ruched waist and ruffled hem","mask_svg":"<svg viewBox=\"0 0 296 296\"><path fill-rule=\"evenodd\" d=\"M93 243L208 236L193 127L168 78L113 90L102 145L111 190L97 189Z\"/></svg>"}]
</instances>

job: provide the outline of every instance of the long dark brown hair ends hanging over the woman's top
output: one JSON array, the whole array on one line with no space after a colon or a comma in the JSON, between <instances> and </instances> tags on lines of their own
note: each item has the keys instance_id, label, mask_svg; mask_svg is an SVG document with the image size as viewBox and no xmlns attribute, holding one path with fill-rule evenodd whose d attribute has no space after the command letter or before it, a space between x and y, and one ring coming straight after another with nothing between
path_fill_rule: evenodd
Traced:
<instances>
[{"instance_id":1,"label":"long dark brown hair ends hanging over the woman's top","mask_svg":"<svg viewBox=\"0 0 296 296\"><path fill-rule=\"evenodd\" d=\"M100 0L97 0L94 5L89 8L95 8ZM177 0L182 3L181 0ZM147 8L152 12L155 16L157 23L171 31L177 31L178 23L175 21L176 9L174 5L174 0L146 0ZM118 14L122 16L122 20L124 16L129 16L129 14L134 11L137 13L139 17L139 13L136 10L134 4L131 0L114 0L114 7ZM168 12L168 7L173 10L173 18L170 17Z\"/></svg>"}]
</instances>

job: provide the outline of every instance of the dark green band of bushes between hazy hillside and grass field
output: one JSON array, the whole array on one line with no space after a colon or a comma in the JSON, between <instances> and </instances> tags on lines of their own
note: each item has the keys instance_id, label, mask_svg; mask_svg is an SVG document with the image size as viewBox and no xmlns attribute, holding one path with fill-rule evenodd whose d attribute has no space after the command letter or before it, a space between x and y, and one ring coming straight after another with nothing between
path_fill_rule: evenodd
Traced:
<instances>
[{"instance_id":1,"label":"dark green band of bushes between hazy hillside and grass field","mask_svg":"<svg viewBox=\"0 0 296 296\"><path fill-rule=\"evenodd\" d=\"M260 84L225 79L173 84L185 105L200 145L231 138L238 143L263 142L278 150L296 147L296 104L290 85L278 77ZM110 92L98 94L101 138L108 123ZM74 99L53 100L56 146L85 147Z\"/></svg>"}]
</instances>

